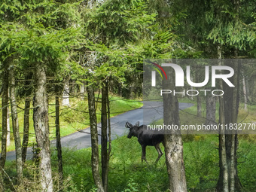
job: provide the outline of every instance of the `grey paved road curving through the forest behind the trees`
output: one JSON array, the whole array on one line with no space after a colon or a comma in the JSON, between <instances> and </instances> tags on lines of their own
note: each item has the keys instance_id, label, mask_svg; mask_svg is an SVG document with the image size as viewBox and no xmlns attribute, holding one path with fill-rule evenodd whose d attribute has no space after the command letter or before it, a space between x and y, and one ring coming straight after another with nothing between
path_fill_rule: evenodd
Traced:
<instances>
[{"instance_id":1,"label":"grey paved road curving through the forest behind the trees","mask_svg":"<svg viewBox=\"0 0 256 192\"><path fill-rule=\"evenodd\" d=\"M178 108L184 109L191 107L192 103L179 102ZM154 110L152 110L154 108ZM127 111L123 114L118 114L115 117L111 117L111 139L116 139L118 136L124 136L128 133L128 129L125 127L126 121L135 124L139 121L140 124L147 124L150 122L143 122L143 117L150 118L151 120L159 120L163 118L163 102L144 102L142 108L134 109L132 111ZM98 123L98 133L100 134L101 123ZM99 136L99 143L100 143ZM90 127L81 130L80 132L72 133L69 136L64 136L61 138L62 148L72 148L73 150L78 150L81 148L89 148L91 146L90 142ZM55 148L56 140L50 142L51 148ZM28 148L27 159L32 159L32 148ZM7 160L15 160L15 151L10 151L7 153Z\"/></svg>"}]
</instances>

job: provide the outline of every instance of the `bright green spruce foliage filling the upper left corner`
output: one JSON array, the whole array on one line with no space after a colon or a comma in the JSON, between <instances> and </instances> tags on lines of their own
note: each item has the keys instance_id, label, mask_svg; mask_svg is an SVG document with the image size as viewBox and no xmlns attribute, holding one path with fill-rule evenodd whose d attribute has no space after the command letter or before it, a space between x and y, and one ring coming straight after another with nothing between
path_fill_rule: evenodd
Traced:
<instances>
[{"instance_id":1,"label":"bright green spruce foliage filling the upper left corner","mask_svg":"<svg viewBox=\"0 0 256 192\"><path fill-rule=\"evenodd\" d=\"M5 13L0 23L0 62L12 56L15 65L28 69L40 63L48 74L70 71L72 47L81 41L81 16L77 3L56 1L5 1L0 11ZM15 9L15 14L13 13ZM0 13L2 13L0 12ZM73 68L74 69L74 68ZM55 75L56 78L59 76Z\"/></svg>"}]
</instances>

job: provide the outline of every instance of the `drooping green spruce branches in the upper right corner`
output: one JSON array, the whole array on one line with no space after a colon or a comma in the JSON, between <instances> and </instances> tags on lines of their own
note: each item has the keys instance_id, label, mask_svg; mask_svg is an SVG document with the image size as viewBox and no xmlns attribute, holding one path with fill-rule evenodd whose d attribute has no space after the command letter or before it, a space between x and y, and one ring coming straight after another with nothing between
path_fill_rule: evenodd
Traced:
<instances>
[{"instance_id":1,"label":"drooping green spruce branches in the upper right corner","mask_svg":"<svg viewBox=\"0 0 256 192\"><path fill-rule=\"evenodd\" d=\"M236 5L236 2L215 1L213 6L217 8L217 15L215 26L208 35L213 43L236 47L239 50L246 50L254 44L255 29L250 28L253 15L248 15L244 2ZM243 17L244 15L247 17ZM248 20L250 17L251 20Z\"/></svg>"}]
</instances>

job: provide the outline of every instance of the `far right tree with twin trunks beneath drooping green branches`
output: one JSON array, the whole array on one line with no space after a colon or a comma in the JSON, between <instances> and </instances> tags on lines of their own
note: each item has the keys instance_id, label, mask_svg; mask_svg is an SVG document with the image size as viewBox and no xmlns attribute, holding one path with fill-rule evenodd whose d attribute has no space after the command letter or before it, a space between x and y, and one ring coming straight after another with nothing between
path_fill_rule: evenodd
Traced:
<instances>
[{"instance_id":1,"label":"far right tree with twin trunks beneath drooping green branches","mask_svg":"<svg viewBox=\"0 0 256 192\"><path fill-rule=\"evenodd\" d=\"M218 23L212 28L209 33L209 38L214 40L215 44L218 44L218 55L221 55L221 49L223 45L225 49L231 50L235 58L238 56L238 51L246 49L251 44L250 41L254 41L251 36L253 33L251 29L242 28L243 21L239 17L240 2L233 1L228 4L222 2L215 2L216 4L216 18ZM221 56L219 56L221 57ZM239 66L238 63L233 63L233 69L235 69L235 75L233 75L232 81L235 85L234 88L223 87L227 89L224 94L224 102L220 102L219 116L224 114L224 120L222 123L237 123L237 115L239 108ZM234 132L228 130L219 136L219 154L220 154L220 174L217 184L217 190L219 191L235 191L242 190L242 185L239 181L237 174L237 156L236 151L238 147L237 135Z\"/></svg>"}]
</instances>

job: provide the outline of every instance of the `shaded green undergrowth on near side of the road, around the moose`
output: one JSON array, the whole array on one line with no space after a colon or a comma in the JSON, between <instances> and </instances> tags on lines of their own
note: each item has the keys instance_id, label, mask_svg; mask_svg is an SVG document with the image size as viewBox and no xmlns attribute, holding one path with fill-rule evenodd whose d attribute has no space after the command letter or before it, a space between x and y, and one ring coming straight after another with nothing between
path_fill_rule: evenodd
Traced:
<instances>
[{"instance_id":1,"label":"shaded green undergrowth on near side of the road, around the moose","mask_svg":"<svg viewBox=\"0 0 256 192\"><path fill-rule=\"evenodd\" d=\"M198 135L193 139L183 136L184 166L187 179L187 190L192 192L214 191L218 180L218 136ZM163 145L161 145L162 151ZM63 148L63 172L65 182L63 191L92 191L94 187L91 172L91 149L78 151ZM239 138L238 172L242 185L247 191L255 191L256 143L246 138ZM99 151L100 154L100 151ZM108 191L167 191L168 175L165 156L161 157L157 166L157 151L154 147L147 148L146 163L141 162L142 149L136 138L119 137L112 142L109 163ZM52 154L53 175L57 172L56 151ZM8 162L6 171L11 178L16 174L15 163ZM26 163L25 174L27 186L32 187L35 172L33 163ZM55 181L56 182L56 181ZM55 186L56 187L56 186ZM32 191L32 190L29 190Z\"/></svg>"}]
</instances>

